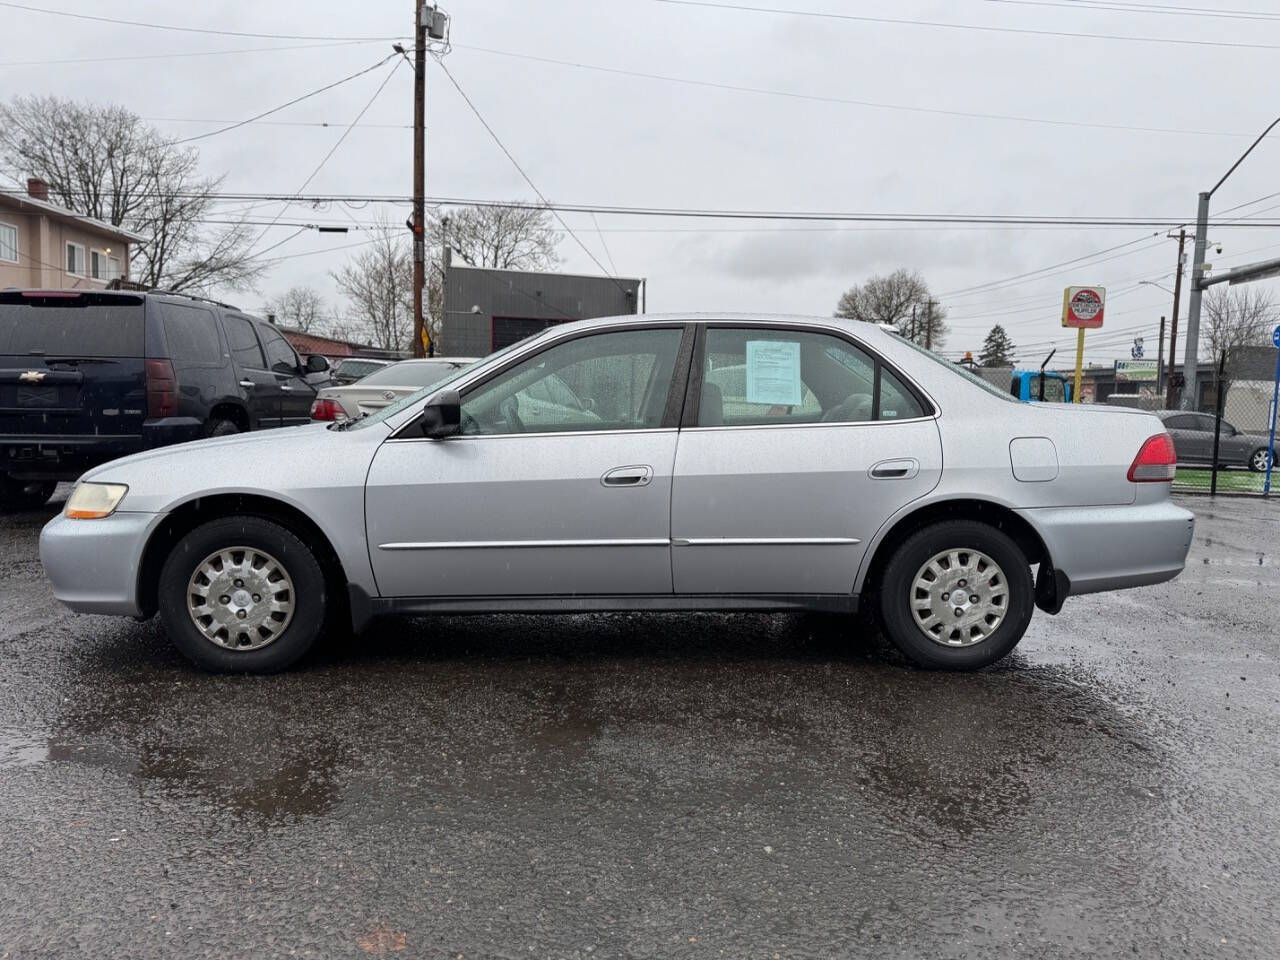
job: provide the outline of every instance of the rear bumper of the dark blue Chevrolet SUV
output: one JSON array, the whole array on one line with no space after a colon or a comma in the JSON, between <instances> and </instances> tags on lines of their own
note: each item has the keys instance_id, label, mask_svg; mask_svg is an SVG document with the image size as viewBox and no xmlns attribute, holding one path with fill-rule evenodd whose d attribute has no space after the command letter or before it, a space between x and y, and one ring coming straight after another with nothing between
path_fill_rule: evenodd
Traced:
<instances>
[{"instance_id":1,"label":"rear bumper of the dark blue Chevrolet SUV","mask_svg":"<svg viewBox=\"0 0 1280 960\"><path fill-rule=\"evenodd\" d=\"M76 480L100 463L204 435L204 424L195 417L147 420L141 434L0 434L0 472L24 480Z\"/></svg>"}]
</instances>

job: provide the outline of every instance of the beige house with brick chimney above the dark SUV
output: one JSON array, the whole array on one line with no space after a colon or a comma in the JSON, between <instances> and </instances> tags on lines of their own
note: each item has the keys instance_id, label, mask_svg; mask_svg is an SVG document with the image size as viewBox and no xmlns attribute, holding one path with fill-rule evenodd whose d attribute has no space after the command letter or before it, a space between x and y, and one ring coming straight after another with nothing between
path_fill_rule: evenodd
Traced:
<instances>
[{"instance_id":1,"label":"beige house with brick chimney above the dark SUV","mask_svg":"<svg viewBox=\"0 0 1280 960\"><path fill-rule=\"evenodd\" d=\"M49 202L49 184L0 193L0 289L101 289L129 279L129 244L143 238Z\"/></svg>"}]
</instances>

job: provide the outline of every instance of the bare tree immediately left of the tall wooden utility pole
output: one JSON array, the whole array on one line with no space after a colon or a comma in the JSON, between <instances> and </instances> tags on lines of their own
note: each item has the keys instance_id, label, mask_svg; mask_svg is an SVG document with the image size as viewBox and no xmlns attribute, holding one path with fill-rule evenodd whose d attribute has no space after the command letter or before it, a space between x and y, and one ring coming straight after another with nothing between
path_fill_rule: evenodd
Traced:
<instances>
[{"instance_id":1,"label":"bare tree immediately left of the tall wooden utility pole","mask_svg":"<svg viewBox=\"0 0 1280 960\"><path fill-rule=\"evenodd\" d=\"M413 256L410 234L379 219L367 247L330 275L349 306L348 338L404 349L413 335ZM356 334L352 337L352 334Z\"/></svg>"}]
</instances>

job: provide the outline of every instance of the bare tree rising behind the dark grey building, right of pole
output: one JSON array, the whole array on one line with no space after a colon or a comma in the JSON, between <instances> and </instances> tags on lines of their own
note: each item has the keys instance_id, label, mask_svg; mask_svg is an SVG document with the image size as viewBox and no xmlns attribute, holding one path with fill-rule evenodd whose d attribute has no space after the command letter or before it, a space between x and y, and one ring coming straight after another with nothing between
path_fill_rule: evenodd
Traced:
<instances>
[{"instance_id":1,"label":"bare tree rising behind the dark grey building, right of pole","mask_svg":"<svg viewBox=\"0 0 1280 960\"><path fill-rule=\"evenodd\" d=\"M448 218L448 229L442 223ZM545 270L559 262L561 234L547 210L516 206L467 206L434 214L428 237L448 242L471 266L499 270Z\"/></svg>"}]
</instances>

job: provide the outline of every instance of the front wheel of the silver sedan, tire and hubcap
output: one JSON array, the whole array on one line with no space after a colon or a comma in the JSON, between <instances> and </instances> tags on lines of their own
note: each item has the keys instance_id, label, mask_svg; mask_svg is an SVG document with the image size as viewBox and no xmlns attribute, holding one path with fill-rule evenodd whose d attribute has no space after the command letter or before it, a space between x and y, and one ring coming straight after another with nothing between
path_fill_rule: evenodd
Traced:
<instances>
[{"instance_id":1,"label":"front wheel of the silver sedan, tire and hubcap","mask_svg":"<svg viewBox=\"0 0 1280 960\"><path fill-rule=\"evenodd\" d=\"M174 645L216 673L289 667L332 607L315 553L262 517L224 517L187 534L160 571L159 600Z\"/></svg>"}]
</instances>

